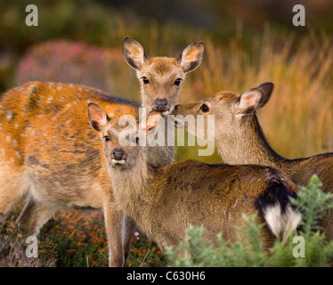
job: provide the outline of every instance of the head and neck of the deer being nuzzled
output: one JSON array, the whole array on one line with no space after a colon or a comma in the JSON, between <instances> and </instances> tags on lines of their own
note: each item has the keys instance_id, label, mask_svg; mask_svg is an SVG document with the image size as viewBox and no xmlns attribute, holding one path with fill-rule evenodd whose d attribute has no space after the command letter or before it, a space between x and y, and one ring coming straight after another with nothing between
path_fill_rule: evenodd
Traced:
<instances>
[{"instance_id":1,"label":"head and neck of the deer being nuzzled","mask_svg":"<svg viewBox=\"0 0 333 285\"><path fill-rule=\"evenodd\" d=\"M183 50L178 60L169 57L147 58L138 42L130 37L124 39L124 56L127 63L136 70L141 84L142 106L146 113L157 110L166 116L174 110L178 94L186 73L196 69L202 61L205 44L196 42ZM167 130L167 119L165 119ZM174 132L165 132L165 142L174 140ZM174 147L148 146L150 149L150 164L164 167L174 159ZM156 158L156 159L154 159ZM162 160L162 158L164 158Z\"/></svg>"}]
</instances>

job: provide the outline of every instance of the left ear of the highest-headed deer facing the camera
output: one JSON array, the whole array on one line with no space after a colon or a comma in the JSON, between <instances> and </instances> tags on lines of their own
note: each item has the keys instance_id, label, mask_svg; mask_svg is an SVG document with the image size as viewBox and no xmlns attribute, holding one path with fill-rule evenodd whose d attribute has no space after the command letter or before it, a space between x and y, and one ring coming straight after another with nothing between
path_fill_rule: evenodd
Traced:
<instances>
[{"instance_id":1,"label":"left ear of the highest-headed deer facing the camera","mask_svg":"<svg viewBox=\"0 0 333 285\"><path fill-rule=\"evenodd\" d=\"M147 60L142 45L131 37L124 38L123 53L128 65L135 70L141 69L143 62Z\"/></svg>"}]
</instances>

